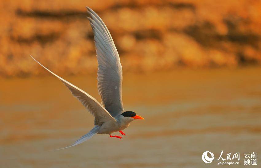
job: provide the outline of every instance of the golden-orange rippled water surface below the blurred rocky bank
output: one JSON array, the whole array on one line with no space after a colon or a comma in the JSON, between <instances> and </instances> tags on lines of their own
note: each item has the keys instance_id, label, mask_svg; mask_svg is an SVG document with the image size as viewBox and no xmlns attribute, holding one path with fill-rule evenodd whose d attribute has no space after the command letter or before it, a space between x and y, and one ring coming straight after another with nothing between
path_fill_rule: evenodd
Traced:
<instances>
[{"instance_id":1,"label":"golden-orange rippled water surface below the blurred rocky bank","mask_svg":"<svg viewBox=\"0 0 261 168\"><path fill-rule=\"evenodd\" d=\"M0 167L218 167L211 151L256 152L261 165L261 68L123 74L123 139L95 135L93 117L53 76L0 79ZM100 101L96 76L62 76ZM115 133L119 135L119 133ZM258 167L258 166L257 166Z\"/></svg>"}]
</instances>

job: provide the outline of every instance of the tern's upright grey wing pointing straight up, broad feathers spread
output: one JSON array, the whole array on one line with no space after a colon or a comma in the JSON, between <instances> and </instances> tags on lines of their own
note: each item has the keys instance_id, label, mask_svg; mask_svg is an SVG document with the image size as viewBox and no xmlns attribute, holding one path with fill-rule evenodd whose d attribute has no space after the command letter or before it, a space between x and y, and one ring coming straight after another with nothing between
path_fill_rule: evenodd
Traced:
<instances>
[{"instance_id":1,"label":"tern's upright grey wing pointing straight up, broad feathers spread","mask_svg":"<svg viewBox=\"0 0 261 168\"><path fill-rule=\"evenodd\" d=\"M122 104L122 66L111 34L102 19L90 8L88 17L94 33L98 60L98 91L102 104L115 117L124 112Z\"/></svg>"}]
</instances>

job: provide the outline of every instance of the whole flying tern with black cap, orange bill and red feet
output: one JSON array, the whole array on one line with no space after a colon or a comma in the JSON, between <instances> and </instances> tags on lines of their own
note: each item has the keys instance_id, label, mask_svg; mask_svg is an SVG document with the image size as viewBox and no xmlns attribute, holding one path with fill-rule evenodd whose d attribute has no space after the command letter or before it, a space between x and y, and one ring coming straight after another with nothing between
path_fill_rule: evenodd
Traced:
<instances>
[{"instance_id":1,"label":"whole flying tern with black cap, orange bill and red feet","mask_svg":"<svg viewBox=\"0 0 261 168\"><path fill-rule=\"evenodd\" d=\"M124 112L122 103L122 66L119 54L111 34L102 19L92 9L89 7L86 8L90 15L90 18L87 18L90 21L94 33L99 64L97 77L98 92L102 99L102 105L91 95L56 75L31 56L43 68L59 78L71 91L72 95L94 116L95 126L92 130L68 147L83 143L95 134L108 134L110 137L121 139L123 137L117 135L112 136L111 134L119 131L122 135L126 135L122 130L127 128L131 121L134 121L135 119L144 119L141 116L136 115L133 111Z\"/></svg>"}]
</instances>

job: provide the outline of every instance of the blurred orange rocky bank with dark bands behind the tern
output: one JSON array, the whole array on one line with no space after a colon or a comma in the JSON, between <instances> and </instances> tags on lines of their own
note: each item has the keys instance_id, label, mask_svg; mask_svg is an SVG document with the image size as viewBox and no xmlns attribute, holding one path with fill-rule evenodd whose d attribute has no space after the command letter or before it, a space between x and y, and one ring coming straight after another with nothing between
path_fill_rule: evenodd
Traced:
<instances>
[{"instance_id":1,"label":"blurred orange rocky bank with dark bands behind the tern","mask_svg":"<svg viewBox=\"0 0 261 168\"><path fill-rule=\"evenodd\" d=\"M123 71L261 64L259 0L0 2L0 76L97 72L85 6L103 19Z\"/></svg>"}]
</instances>

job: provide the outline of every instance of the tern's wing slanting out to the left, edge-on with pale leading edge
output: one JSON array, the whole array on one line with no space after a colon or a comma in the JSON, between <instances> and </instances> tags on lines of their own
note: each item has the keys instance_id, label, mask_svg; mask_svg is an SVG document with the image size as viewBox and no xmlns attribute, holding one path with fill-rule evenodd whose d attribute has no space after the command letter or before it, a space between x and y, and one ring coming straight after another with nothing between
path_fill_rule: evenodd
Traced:
<instances>
[{"instance_id":1,"label":"tern's wing slanting out to the left, edge-on with pale leading edge","mask_svg":"<svg viewBox=\"0 0 261 168\"><path fill-rule=\"evenodd\" d=\"M31 56L32 57L32 56ZM33 57L32 57L33 58ZM33 58L34 59L34 58ZM34 61L36 61L34 59ZM102 107L97 100L95 100L91 95L84 92L82 89L74 86L70 82L64 80L60 76L56 75L49 69L47 69L45 66L43 66L40 62L36 61L38 64L40 64L42 67L44 67L47 71L52 73L54 76L59 78L64 85L71 91L72 95L77 98L84 107L95 117L94 125L102 125L104 122L107 121L115 121L116 120L110 115L110 113Z\"/></svg>"}]
</instances>

